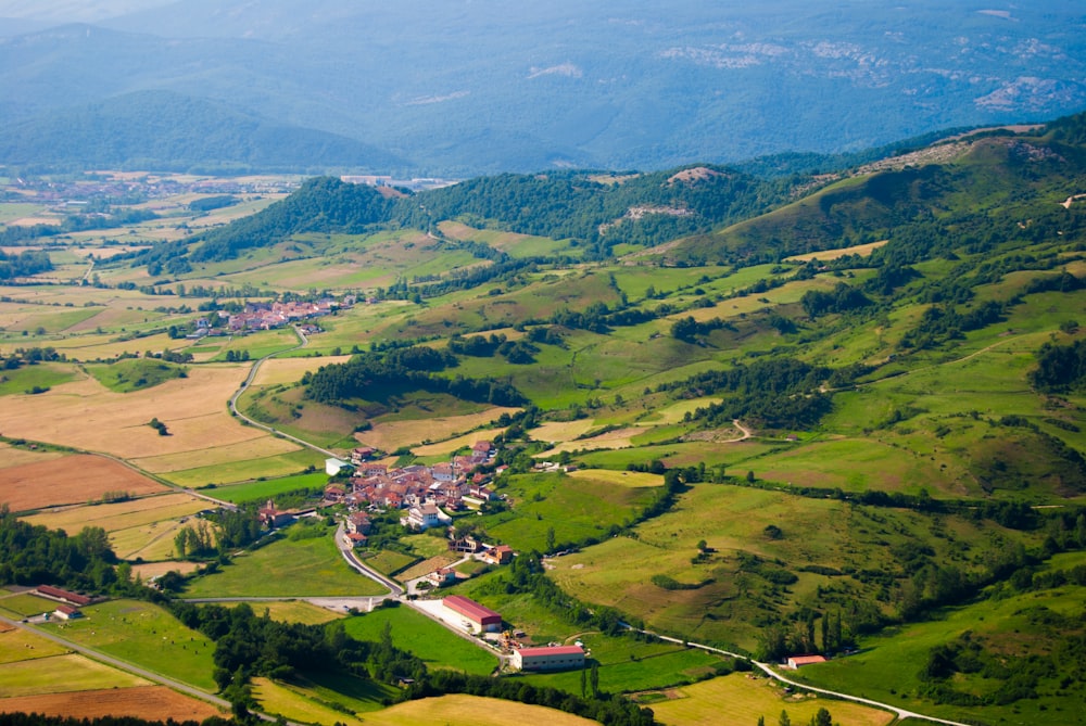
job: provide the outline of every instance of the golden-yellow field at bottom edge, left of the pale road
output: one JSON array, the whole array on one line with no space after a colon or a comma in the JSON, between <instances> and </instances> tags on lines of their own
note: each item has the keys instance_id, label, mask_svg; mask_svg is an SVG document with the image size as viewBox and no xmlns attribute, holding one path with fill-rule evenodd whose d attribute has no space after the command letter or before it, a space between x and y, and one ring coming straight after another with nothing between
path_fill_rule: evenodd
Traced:
<instances>
[{"instance_id":1,"label":"golden-yellow field at bottom edge, left of the pale road","mask_svg":"<svg viewBox=\"0 0 1086 726\"><path fill-rule=\"evenodd\" d=\"M660 700L645 698L656 717L670 726L754 724L765 717L776 723L782 711L793 724L807 724L819 709L826 709L841 726L886 726L894 714L858 703L790 696L769 678L733 673L692 686L655 691Z\"/></svg>"}]
</instances>

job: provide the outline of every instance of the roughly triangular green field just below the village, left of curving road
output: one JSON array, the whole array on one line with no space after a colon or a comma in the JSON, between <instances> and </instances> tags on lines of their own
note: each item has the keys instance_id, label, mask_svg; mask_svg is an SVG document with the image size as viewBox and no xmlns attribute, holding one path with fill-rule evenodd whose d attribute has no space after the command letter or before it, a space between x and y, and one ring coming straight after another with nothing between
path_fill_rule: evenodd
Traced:
<instances>
[{"instance_id":1,"label":"roughly triangular green field just below the village, left of curving road","mask_svg":"<svg viewBox=\"0 0 1086 726\"><path fill-rule=\"evenodd\" d=\"M326 536L283 538L245 552L217 573L190 582L185 594L193 598L364 597L384 591L343 561L329 530Z\"/></svg>"}]
</instances>

